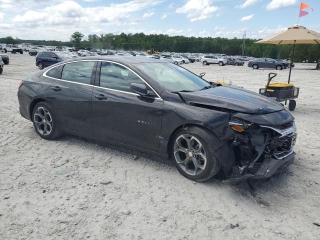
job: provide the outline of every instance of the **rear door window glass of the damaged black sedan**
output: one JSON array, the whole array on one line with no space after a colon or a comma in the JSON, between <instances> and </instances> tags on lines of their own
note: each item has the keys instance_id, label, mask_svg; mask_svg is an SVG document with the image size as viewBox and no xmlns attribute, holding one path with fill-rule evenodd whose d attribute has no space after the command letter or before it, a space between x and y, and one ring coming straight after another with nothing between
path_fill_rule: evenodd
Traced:
<instances>
[{"instance_id":1,"label":"rear door window glass of the damaged black sedan","mask_svg":"<svg viewBox=\"0 0 320 240\"><path fill-rule=\"evenodd\" d=\"M90 84L94 61L78 61L64 64L61 79Z\"/></svg>"}]
</instances>

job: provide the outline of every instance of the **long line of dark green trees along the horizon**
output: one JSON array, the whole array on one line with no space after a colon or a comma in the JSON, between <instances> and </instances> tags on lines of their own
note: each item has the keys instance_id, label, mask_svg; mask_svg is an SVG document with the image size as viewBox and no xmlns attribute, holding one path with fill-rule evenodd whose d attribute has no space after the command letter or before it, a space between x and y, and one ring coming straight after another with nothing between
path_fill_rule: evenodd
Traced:
<instances>
[{"instance_id":1,"label":"long line of dark green trees along the horizon","mask_svg":"<svg viewBox=\"0 0 320 240\"><path fill-rule=\"evenodd\" d=\"M242 38L169 36L166 34L120 33L120 34L89 34L82 40L83 34L72 33L69 41L17 39L11 36L0 38L0 43L75 46L78 48L104 48L115 50L141 50L153 48L158 51L170 52L202 52L225 53L227 55L241 55ZM286 59L291 56L292 45L256 44L258 39L245 40L245 55L254 57L271 57ZM297 44L294 61L320 58L320 44Z\"/></svg>"}]
</instances>

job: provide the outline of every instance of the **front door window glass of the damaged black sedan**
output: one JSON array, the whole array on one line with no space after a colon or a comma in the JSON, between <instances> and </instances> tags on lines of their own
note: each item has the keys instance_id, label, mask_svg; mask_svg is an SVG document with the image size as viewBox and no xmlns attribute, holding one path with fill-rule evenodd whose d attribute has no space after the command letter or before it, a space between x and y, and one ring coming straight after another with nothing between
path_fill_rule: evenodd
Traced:
<instances>
[{"instance_id":1,"label":"front door window glass of the damaged black sedan","mask_svg":"<svg viewBox=\"0 0 320 240\"><path fill-rule=\"evenodd\" d=\"M101 87L132 92L130 89L131 83L144 84L144 82L136 74L124 66L112 62L101 62Z\"/></svg>"}]
</instances>

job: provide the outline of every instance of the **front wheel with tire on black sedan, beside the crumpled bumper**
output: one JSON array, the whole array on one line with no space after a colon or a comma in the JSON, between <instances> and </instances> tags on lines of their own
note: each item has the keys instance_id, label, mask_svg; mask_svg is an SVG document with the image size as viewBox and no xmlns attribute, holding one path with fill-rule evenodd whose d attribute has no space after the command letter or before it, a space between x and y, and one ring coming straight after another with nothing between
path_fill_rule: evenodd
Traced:
<instances>
[{"instance_id":1,"label":"front wheel with tire on black sedan, beside the crumpled bumper","mask_svg":"<svg viewBox=\"0 0 320 240\"><path fill-rule=\"evenodd\" d=\"M204 181L220 170L215 157L215 139L206 130L191 126L177 130L171 142L171 158L177 170L194 181Z\"/></svg>"}]
</instances>

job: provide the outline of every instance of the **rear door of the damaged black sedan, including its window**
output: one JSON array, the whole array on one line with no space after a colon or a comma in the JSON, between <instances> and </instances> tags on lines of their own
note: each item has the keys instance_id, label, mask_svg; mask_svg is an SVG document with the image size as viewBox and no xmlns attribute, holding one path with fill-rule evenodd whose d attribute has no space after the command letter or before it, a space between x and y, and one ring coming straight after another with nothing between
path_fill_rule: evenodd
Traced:
<instances>
[{"instance_id":1,"label":"rear door of the damaged black sedan, including its window","mask_svg":"<svg viewBox=\"0 0 320 240\"><path fill-rule=\"evenodd\" d=\"M47 97L64 129L92 135L91 97L97 61L57 65L44 74L50 78Z\"/></svg>"}]
</instances>

